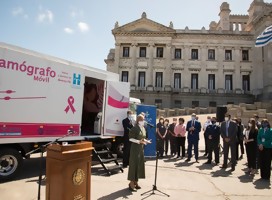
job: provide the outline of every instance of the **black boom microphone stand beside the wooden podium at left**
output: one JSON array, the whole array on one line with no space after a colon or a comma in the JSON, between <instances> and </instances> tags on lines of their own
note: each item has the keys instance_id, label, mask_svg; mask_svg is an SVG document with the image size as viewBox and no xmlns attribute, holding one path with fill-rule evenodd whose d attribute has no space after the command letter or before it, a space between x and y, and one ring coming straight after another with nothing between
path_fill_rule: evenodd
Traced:
<instances>
[{"instance_id":1,"label":"black boom microphone stand beside the wooden podium at left","mask_svg":"<svg viewBox=\"0 0 272 200\"><path fill-rule=\"evenodd\" d=\"M39 186L38 186L38 200L41 199L42 159L43 159L43 153L45 152L46 147L48 147L48 146L51 145L51 144L57 143L59 140L65 138L65 137L67 137L67 136L69 136L69 135L72 135L72 134L74 134L74 133L75 133L74 131L68 130L68 131L67 131L67 134L64 135L63 137L57 138L57 139L54 140L54 141L48 142L48 143L46 143L46 144L43 144L43 145L41 145L40 147L37 147L36 149L34 149L34 150L32 150L32 151L30 151L30 152L28 152L28 153L26 154L26 156L28 156L28 155L33 154L34 152L36 152L36 151L38 151L38 150L41 151L41 156L40 156L40 173L39 173Z\"/></svg>"}]
</instances>

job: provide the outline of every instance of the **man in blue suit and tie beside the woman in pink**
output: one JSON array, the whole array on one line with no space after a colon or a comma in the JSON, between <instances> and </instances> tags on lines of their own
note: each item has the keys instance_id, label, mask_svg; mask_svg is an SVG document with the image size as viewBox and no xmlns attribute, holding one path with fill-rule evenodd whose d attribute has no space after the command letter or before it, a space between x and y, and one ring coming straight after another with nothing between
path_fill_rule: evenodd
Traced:
<instances>
[{"instance_id":1,"label":"man in blue suit and tie beside the woman in pink","mask_svg":"<svg viewBox=\"0 0 272 200\"><path fill-rule=\"evenodd\" d=\"M192 118L187 122L186 131L188 131L188 158L186 162L191 161L192 147L194 146L195 159L198 163L198 142L201 124L196 120L196 114L192 114Z\"/></svg>"}]
</instances>

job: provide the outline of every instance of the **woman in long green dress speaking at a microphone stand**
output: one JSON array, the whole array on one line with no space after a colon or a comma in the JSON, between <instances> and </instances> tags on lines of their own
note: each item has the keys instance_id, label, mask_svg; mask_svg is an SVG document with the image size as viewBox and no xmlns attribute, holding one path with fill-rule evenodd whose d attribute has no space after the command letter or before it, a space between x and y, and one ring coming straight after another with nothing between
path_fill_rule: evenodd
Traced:
<instances>
[{"instance_id":1,"label":"woman in long green dress speaking at a microphone stand","mask_svg":"<svg viewBox=\"0 0 272 200\"><path fill-rule=\"evenodd\" d=\"M131 142L128 180L130 181L128 187L130 191L137 191L141 189L138 185L139 178L145 178L145 164L144 164L144 145L150 143L146 140L146 131L144 128L144 116L138 115L135 126L130 129L129 141Z\"/></svg>"}]
</instances>

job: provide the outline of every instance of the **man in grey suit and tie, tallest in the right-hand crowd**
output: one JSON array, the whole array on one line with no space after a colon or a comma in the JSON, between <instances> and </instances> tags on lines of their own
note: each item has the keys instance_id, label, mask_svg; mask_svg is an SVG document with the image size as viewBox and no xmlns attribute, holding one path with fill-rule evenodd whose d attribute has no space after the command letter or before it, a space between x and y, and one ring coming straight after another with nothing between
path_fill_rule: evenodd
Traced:
<instances>
[{"instance_id":1,"label":"man in grey suit and tie, tallest in the right-hand crowd","mask_svg":"<svg viewBox=\"0 0 272 200\"><path fill-rule=\"evenodd\" d=\"M236 165L237 124L231 121L230 114L225 114L225 121L221 124L221 137L223 138L224 163L222 168L227 168L229 149L231 150L231 170Z\"/></svg>"}]
</instances>

